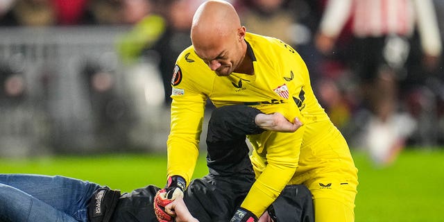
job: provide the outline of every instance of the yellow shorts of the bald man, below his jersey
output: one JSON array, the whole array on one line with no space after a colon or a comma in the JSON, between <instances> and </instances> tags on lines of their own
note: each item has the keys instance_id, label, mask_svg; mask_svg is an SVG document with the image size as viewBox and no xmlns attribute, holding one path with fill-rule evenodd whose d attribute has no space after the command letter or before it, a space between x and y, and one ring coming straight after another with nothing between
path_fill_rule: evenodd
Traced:
<instances>
[{"instance_id":1,"label":"yellow shorts of the bald man, below his jersey","mask_svg":"<svg viewBox=\"0 0 444 222\"><path fill-rule=\"evenodd\" d=\"M299 167L290 183L310 189L316 222L355 221L357 169L347 142L328 121L310 124L314 126L308 126L306 134L323 136L302 142Z\"/></svg>"}]
</instances>

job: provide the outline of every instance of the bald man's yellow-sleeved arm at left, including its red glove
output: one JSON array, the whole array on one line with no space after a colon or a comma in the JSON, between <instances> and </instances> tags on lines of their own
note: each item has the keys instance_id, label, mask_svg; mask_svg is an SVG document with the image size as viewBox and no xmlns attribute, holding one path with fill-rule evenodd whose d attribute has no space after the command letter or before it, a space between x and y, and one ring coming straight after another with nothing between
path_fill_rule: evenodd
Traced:
<instances>
[{"instance_id":1,"label":"bald man's yellow-sleeved arm at left, including its red glove","mask_svg":"<svg viewBox=\"0 0 444 222\"><path fill-rule=\"evenodd\" d=\"M207 96L203 89L196 87L194 66L187 62L185 49L174 68L171 85L171 127L167 141L167 185L157 192L154 210L158 219L169 221L171 216L164 212L164 206L176 198L183 197L183 191L189 185L196 167L199 154L199 140ZM189 72L182 71L180 66L187 67Z\"/></svg>"}]
</instances>

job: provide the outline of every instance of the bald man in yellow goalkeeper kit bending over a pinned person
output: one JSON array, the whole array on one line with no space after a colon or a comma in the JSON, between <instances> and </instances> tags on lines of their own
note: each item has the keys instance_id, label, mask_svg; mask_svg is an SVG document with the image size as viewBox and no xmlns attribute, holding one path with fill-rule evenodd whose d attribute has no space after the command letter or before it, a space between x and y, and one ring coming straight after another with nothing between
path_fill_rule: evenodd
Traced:
<instances>
[{"instance_id":1,"label":"bald man in yellow goalkeeper kit bending over a pinned person","mask_svg":"<svg viewBox=\"0 0 444 222\"><path fill-rule=\"evenodd\" d=\"M247 33L225 1L206 1L196 10L191 42L171 79L168 182L156 198L171 201L187 189L210 99L217 108L245 104L303 123L293 133L248 136L256 180L231 221L257 221L286 185L298 184L311 191L316 221L354 221L357 169L343 135L318 103L299 54L278 39Z\"/></svg>"}]
</instances>

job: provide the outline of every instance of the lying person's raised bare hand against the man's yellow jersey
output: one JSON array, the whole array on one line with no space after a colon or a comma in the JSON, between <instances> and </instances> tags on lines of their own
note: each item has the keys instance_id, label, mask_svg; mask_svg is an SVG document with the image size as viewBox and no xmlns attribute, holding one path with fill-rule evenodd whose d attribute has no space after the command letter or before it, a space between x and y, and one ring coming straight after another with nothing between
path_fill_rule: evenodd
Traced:
<instances>
[{"instance_id":1,"label":"lying person's raised bare hand against the man's yellow jersey","mask_svg":"<svg viewBox=\"0 0 444 222\"><path fill-rule=\"evenodd\" d=\"M295 118L292 123L279 112L273 114L259 113L255 117L255 123L264 130L286 133L293 133L302 126L302 122L300 122L298 118Z\"/></svg>"}]
</instances>

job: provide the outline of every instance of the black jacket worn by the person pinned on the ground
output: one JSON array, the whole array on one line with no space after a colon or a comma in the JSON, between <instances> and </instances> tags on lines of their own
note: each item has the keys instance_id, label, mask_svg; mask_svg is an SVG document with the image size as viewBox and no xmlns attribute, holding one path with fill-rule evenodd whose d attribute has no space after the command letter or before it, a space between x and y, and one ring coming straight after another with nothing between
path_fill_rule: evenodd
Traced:
<instances>
[{"instance_id":1,"label":"black jacket worn by the person pinned on the ground","mask_svg":"<svg viewBox=\"0 0 444 222\"><path fill-rule=\"evenodd\" d=\"M246 105L225 106L212 112L206 139L209 174L191 181L184 195L189 212L199 221L230 221L248 194L255 173L246 135L264 131L255 124L259 113ZM156 222L153 199L159 189L151 185L121 195L116 207L109 209L109 221ZM314 221L311 194L303 185L287 186L269 210L278 221Z\"/></svg>"}]
</instances>

